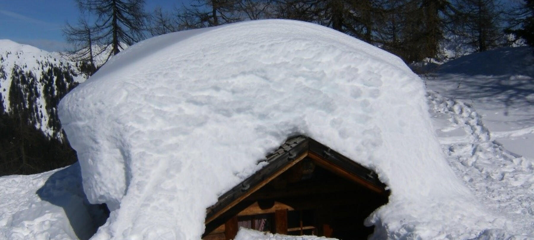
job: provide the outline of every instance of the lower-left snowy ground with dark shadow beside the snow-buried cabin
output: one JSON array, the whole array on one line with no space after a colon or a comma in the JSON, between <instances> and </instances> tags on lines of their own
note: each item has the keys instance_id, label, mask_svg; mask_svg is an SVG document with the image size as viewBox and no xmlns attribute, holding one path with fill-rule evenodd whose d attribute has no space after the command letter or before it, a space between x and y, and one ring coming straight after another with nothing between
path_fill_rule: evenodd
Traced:
<instances>
[{"instance_id":1,"label":"lower-left snowy ground with dark shadow beside the snow-buried cabin","mask_svg":"<svg viewBox=\"0 0 534 240\"><path fill-rule=\"evenodd\" d=\"M77 163L0 178L0 239L89 239L105 214L87 201Z\"/></svg>"}]
</instances>

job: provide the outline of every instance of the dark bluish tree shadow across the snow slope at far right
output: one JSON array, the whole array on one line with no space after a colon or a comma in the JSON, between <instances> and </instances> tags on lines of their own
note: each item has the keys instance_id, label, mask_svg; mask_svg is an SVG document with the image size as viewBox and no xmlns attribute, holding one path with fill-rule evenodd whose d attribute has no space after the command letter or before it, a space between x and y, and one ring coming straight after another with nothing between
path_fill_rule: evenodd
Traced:
<instances>
[{"instance_id":1,"label":"dark bluish tree shadow across the snow slope at far right","mask_svg":"<svg viewBox=\"0 0 534 240\"><path fill-rule=\"evenodd\" d=\"M436 74L440 79L464 76L457 86L449 87L449 94L502 102L505 115L509 109L534 106L534 54L530 47L506 47L467 55L444 63ZM522 121L534 124L532 118Z\"/></svg>"}]
</instances>

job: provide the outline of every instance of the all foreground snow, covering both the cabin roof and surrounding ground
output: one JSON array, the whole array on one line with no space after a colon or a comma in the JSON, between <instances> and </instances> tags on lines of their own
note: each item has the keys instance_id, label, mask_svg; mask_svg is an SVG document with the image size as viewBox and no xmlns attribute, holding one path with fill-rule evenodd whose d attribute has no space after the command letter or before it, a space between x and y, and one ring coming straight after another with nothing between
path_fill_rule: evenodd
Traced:
<instances>
[{"instance_id":1,"label":"all foreground snow, covering both the cabin roof and surrounding ground","mask_svg":"<svg viewBox=\"0 0 534 240\"><path fill-rule=\"evenodd\" d=\"M367 221L374 239L532 239L534 164L520 156L532 150L532 71L492 72L531 69L528 51L495 51L515 56L496 66L474 55L443 65L425 98L398 59L308 23L150 39L117 55L64 106L82 169L0 178L0 239L87 239L88 222L104 213L87 203L80 172L89 199L113 210L95 239L197 239L217 194L289 133L380 174L392 194ZM521 84L522 100L476 87L484 79L497 89L505 78ZM517 144L506 141L517 139L527 147L509 150ZM237 239L299 238L240 231Z\"/></svg>"}]
</instances>

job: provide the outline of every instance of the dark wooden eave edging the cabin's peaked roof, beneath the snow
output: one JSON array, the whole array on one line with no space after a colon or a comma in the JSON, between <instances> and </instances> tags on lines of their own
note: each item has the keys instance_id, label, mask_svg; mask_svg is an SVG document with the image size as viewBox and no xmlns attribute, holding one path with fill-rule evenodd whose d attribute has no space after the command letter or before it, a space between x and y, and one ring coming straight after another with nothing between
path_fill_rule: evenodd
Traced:
<instances>
[{"instance_id":1,"label":"dark wooden eave edging the cabin's peaked roof, beneath the snow","mask_svg":"<svg viewBox=\"0 0 534 240\"><path fill-rule=\"evenodd\" d=\"M218 202L206 210L205 223L215 220L305 157L375 193L386 194L386 186L378 180L375 172L311 138L299 136L287 140L277 151L261 161L267 162L262 169L219 197Z\"/></svg>"}]
</instances>

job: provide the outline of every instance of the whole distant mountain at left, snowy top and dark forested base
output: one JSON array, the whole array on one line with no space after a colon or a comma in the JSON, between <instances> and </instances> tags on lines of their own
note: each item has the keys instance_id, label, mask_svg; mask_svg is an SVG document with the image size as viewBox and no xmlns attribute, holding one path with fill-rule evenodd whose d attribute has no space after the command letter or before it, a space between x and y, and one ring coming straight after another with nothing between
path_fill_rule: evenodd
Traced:
<instances>
[{"instance_id":1,"label":"whole distant mountain at left, snowy top and dark forested base","mask_svg":"<svg viewBox=\"0 0 534 240\"><path fill-rule=\"evenodd\" d=\"M57 106L84 79L60 53L0 39L0 175L76 161Z\"/></svg>"}]
</instances>

